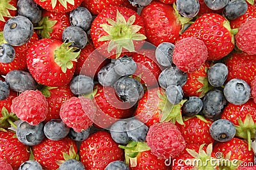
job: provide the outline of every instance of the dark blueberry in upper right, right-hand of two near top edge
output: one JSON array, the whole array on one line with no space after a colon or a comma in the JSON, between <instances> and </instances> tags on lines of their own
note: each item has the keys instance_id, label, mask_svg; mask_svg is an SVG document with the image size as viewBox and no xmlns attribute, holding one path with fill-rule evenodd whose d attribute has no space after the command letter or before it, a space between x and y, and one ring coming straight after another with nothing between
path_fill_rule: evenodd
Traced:
<instances>
[{"instance_id":1,"label":"dark blueberry in upper right, right-hand of two near top edge","mask_svg":"<svg viewBox=\"0 0 256 170\"><path fill-rule=\"evenodd\" d=\"M223 15L228 20L234 20L244 15L248 9L248 4L244 0L231 0L224 7Z\"/></svg>"}]
</instances>

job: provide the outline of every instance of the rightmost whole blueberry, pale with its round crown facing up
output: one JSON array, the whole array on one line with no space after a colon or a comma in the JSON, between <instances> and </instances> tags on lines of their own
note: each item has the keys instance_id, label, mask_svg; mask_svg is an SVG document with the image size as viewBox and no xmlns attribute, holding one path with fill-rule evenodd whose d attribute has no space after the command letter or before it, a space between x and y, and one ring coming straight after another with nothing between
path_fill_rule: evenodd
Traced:
<instances>
[{"instance_id":1,"label":"rightmost whole blueberry, pale with its round crown facing up","mask_svg":"<svg viewBox=\"0 0 256 170\"><path fill-rule=\"evenodd\" d=\"M251 88L242 79L232 79L225 84L223 92L228 102L241 105L250 99Z\"/></svg>"}]
</instances>

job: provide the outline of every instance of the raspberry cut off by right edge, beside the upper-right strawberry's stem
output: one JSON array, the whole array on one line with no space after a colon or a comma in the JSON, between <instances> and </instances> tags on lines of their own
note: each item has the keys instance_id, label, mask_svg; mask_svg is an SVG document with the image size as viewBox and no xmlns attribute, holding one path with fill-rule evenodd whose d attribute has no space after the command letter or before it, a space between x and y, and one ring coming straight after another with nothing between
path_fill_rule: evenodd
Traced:
<instances>
[{"instance_id":1,"label":"raspberry cut off by right edge, beside the upper-right strawberry's stem","mask_svg":"<svg viewBox=\"0 0 256 170\"><path fill-rule=\"evenodd\" d=\"M236 34L236 45L244 52L253 55L256 54L256 19L246 20L238 28Z\"/></svg>"}]
</instances>

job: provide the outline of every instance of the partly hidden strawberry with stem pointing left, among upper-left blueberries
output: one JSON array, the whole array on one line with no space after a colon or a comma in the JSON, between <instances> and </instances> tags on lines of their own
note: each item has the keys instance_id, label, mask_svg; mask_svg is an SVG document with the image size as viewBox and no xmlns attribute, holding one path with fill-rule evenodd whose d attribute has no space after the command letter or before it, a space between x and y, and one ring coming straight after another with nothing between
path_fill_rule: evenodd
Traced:
<instances>
[{"instance_id":1,"label":"partly hidden strawberry with stem pointing left, among upper-left blueberries","mask_svg":"<svg viewBox=\"0 0 256 170\"><path fill-rule=\"evenodd\" d=\"M68 26L70 26L68 13L42 10L42 19L34 29L41 38L56 38L62 41L62 32Z\"/></svg>"}]
</instances>

